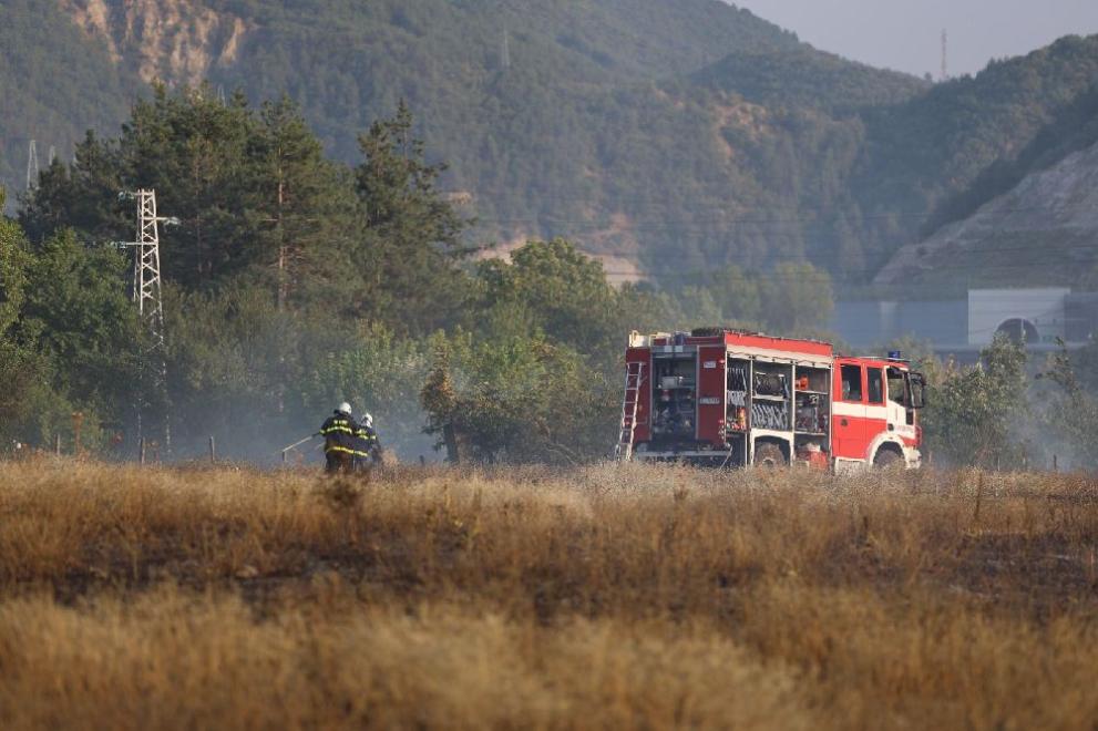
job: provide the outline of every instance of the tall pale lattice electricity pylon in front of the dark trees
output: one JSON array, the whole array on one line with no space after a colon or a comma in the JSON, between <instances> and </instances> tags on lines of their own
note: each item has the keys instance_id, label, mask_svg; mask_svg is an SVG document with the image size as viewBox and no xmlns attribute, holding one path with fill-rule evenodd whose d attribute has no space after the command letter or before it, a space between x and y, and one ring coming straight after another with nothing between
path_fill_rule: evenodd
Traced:
<instances>
[{"instance_id":1,"label":"tall pale lattice electricity pylon in front of the dark trees","mask_svg":"<svg viewBox=\"0 0 1098 731\"><path fill-rule=\"evenodd\" d=\"M163 400L163 439L164 449L172 445L171 428L167 413L167 363L164 342L164 302L161 298L161 247L160 224L174 225L176 218L164 218L156 215L156 192L137 191L123 193L122 198L137 200L137 240L124 245L133 247L133 301L137 306L137 316L148 333L148 340L142 349L140 363L141 383L137 388L137 437L144 437L144 416L150 404L146 400L150 391L155 391ZM151 389L146 390L146 385Z\"/></svg>"}]
</instances>

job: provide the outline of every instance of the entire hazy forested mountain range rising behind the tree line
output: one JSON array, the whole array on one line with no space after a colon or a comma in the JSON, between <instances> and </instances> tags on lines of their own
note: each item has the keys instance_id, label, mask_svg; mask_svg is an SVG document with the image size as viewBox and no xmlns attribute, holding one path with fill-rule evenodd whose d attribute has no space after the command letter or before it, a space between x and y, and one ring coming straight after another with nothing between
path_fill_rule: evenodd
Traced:
<instances>
[{"instance_id":1,"label":"entire hazy forested mountain range rising behind the tree line","mask_svg":"<svg viewBox=\"0 0 1098 731\"><path fill-rule=\"evenodd\" d=\"M12 48L70 87L51 95L18 64L0 71L14 90L9 183L28 137L66 148L84 127L113 134L154 78L208 79L253 103L288 94L345 163L403 100L430 159L449 164L440 189L476 219L466 243L564 236L605 255L612 275L639 266L675 287L714 265L787 260L869 281L900 247L1098 134L1096 39L930 84L821 53L717 0L57 0L0 12ZM34 112L47 103L61 111Z\"/></svg>"}]
</instances>

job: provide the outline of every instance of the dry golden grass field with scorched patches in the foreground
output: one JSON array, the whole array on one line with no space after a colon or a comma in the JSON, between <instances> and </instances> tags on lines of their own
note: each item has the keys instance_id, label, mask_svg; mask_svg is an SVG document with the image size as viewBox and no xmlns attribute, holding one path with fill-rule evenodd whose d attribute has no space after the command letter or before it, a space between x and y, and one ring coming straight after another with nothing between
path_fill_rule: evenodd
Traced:
<instances>
[{"instance_id":1,"label":"dry golden grass field with scorched patches in the foreground","mask_svg":"<svg viewBox=\"0 0 1098 731\"><path fill-rule=\"evenodd\" d=\"M0 465L0 727L1092 729L1098 486Z\"/></svg>"}]
</instances>

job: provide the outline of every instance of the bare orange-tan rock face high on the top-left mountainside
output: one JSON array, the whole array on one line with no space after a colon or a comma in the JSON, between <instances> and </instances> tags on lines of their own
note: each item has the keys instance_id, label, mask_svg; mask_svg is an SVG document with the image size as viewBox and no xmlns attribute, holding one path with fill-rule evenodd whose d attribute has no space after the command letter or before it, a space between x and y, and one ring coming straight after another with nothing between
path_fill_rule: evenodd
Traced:
<instances>
[{"instance_id":1,"label":"bare orange-tan rock face high on the top-left mountainside","mask_svg":"<svg viewBox=\"0 0 1098 731\"><path fill-rule=\"evenodd\" d=\"M236 61L252 30L192 0L61 0L61 8L145 82L201 83L211 69Z\"/></svg>"}]
</instances>

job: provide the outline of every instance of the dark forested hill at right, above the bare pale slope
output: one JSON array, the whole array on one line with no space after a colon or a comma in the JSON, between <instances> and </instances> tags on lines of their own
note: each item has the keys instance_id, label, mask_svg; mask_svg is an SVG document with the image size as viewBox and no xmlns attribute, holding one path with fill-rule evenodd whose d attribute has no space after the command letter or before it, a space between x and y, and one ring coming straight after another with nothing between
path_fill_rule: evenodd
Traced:
<instances>
[{"instance_id":1,"label":"dark forested hill at right, above the bare pale slope","mask_svg":"<svg viewBox=\"0 0 1098 731\"><path fill-rule=\"evenodd\" d=\"M1098 37L1065 38L868 113L851 189L870 217L917 241L1098 140L1096 113ZM1035 248L1057 236L1033 228Z\"/></svg>"}]
</instances>

